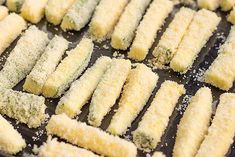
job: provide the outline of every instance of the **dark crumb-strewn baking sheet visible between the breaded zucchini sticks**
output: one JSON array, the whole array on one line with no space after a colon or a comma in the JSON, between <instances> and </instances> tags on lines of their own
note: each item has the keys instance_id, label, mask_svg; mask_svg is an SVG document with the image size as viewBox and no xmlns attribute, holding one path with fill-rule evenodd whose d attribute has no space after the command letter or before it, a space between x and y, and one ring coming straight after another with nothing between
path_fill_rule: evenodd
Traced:
<instances>
[{"instance_id":1,"label":"dark crumb-strewn baking sheet visible between the breaded zucchini sticks","mask_svg":"<svg viewBox=\"0 0 235 157\"><path fill-rule=\"evenodd\" d=\"M176 11L178 11L180 6L176 6L174 11L170 14L170 16L167 18L166 23L161 31L158 32L158 36L156 39L156 42L153 44L153 47L155 47L162 35L162 33L167 28L169 22L174 17L174 14ZM135 119L135 121L132 123L132 127L129 129L129 131L122 137L126 139L132 139L131 132L137 128L138 122L140 121L141 117L144 115L146 109L149 107L153 97L155 96L156 91L159 89L160 84L165 80L174 80L178 83L182 83L185 85L185 88L187 89L186 95L182 96L179 100L179 103L177 104L177 107L175 108L175 111L173 112L170 122L168 124L168 127L165 131L165 134L162 136L161 143L157 146L155 150L162 151L164 154L166 154L167 157L171 157L172 155L172 149L174 147L174 141L175 141L175 134L177 130L177 124L179 123L180 118L182 117L182 113L184 112L187 102L190 99L192 95L196 93L196 91L206 84L200 81L200 76L203 74L203 71L207 69L210 64L213 62L213 60L217 57L218 53L218 47L221 45L225 37L228 35L231 25L226 22L226 15L223 12L217 11L218 15L223 18L222 22L220 23L218 29L214 33L214 35L210 38L206 46L202 49L201 53L199 54L198 58L196 59L193 68L190 69L185 75L179 75L178 73L173 72L172 70L154 70L158 73L160 76L157 87L155 88L151 98L149 99L147 105L144 107L143 111L138 115L138 117ZM69 32L64 33L59 27L55 27L49 23L46 22L46 20L42 20L37 26L47 32L49 34L49 37L52 38L54 34L61 35L65 37L68 41L72 42L70 45L70 48L75 47L77 43L79 43L81 37L86 34L88 27L84 28L80 32ZM198 36L200 38L200 35ZM32 41L34 42L34 41ZM2 65L4 65L5 59L7 58L10 51L15 47L15 44L17 43L17 40L14 41L14 43L6 50L5 53L3 53L0 56L0 68L2 68ZM112 57L113 53L116 51L111 48L110 46L110 40L107 40L103 43L95 43L95 49L91 58L90 65L91 66L98 57L101 55L106 55ZM105 45L105 46L104 46ZM108 46L108 48L106 48ZM144 63L148 63L147 60L152 58L151 52L153 48L150 50L149 55L147 56L147 59L144 61ZM122 52L126 56L126 52ZM24 83L24 80L19 83L14 89L22 91L22 85ZM207 85L209 86L209 85ZM215 110L215 106L218 104L219 95L223 93L223 91L216 89L215 87L209 86L212 89L213 92L213 109ZM234 92L235 88L232 88L230 92ZM47 99L47 109L46 112L49 115L54 114L55 107L57 105L57 102L59 99ZM118 101L117 101L118 102ZM88 114L88 105L84 106L82 109L82 113L78 116L79 121L87 122L87 114ZM103 120L103 123L101 125L101 129L105 130L108 127L108 124L114 114L114 109L117 108L117 104L113 107L112 111L105 117ZM5 116L6 117L6 116ZM25 138L27 142L27 147L20 153L18 153L17 157L27 157L27 156L33 156L32 154L32 148L33 145L40 146L43 142L46 141L46 131L45 131L45 124L43 124L38 129L29 129L24 124L16 124L15 120L10 119L6 117L7 120L9 120L15 128L22 134L23 138ZM193 117L192 117L193 118ZM223 136L223 135L221 135ZM229 150L227 157L233 157L235 156L235 143L231 146L231 149ZM150 153L151 155L152 153ZM146 156L146 153L143 153L139 151L138 157L144 157ZM10 157L10 155L4 154L3 152L0 152L0 156L3 157Z\"/></svg>"}]
</instances>

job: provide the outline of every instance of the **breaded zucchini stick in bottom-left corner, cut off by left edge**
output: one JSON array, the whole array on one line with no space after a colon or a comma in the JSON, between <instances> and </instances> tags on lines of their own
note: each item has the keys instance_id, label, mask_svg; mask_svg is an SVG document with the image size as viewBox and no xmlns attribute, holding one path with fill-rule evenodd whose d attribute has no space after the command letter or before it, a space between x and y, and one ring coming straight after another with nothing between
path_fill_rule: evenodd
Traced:
<instances>
[{"instance_id":1,"label":"breaded zucchini stick in bottom-left corner, cut off by left edge","mask_svg":"<svg viewBox=\"0 0 235 157\"><path fill-rule=\"evenodd\" d=\"M16 154L25 147L26 143L21 134L0 115L0 150Z\"/></svg>"}]
</instances>

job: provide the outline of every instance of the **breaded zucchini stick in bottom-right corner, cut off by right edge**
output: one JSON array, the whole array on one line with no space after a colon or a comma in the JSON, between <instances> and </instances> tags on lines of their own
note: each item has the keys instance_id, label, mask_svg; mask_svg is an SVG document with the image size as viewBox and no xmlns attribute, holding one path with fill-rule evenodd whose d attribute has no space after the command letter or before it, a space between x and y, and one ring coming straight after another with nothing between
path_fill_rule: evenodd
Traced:
<instances>
[{"instance_id":1,"label":"breaded zucchini stick in bottom-right corner, cut off by right edge","mask_svg":"<svg viewBox=\"0 0 235 157\"><path fill-rule=\"evenodd\" d=\"M208 134L202 142L196 157L225 156L233 143L235 134L235 94L225 93L220 96Z\"/></svg>"}]
</instances>

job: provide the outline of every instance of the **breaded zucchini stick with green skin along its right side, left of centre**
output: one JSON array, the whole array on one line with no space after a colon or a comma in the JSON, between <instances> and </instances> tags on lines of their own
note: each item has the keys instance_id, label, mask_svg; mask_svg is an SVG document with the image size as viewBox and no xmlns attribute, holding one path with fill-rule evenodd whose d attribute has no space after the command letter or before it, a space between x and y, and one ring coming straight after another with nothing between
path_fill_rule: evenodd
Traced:
<instances>
[{"instance_id":1,"label":"breaded zucchini stick with green skin along its right side, left of centre","mask_svg":"<svg viewBox=\"0 0 235 157\"><path fill-rule=\"evenodd\" d=\"M76 48L67 52L56 70L48 77L43 87L45 97L59 97L69 88L71 83L85 70L91 59L94 44L92 40L83 38Z\"/></svg>"}]
</instances>

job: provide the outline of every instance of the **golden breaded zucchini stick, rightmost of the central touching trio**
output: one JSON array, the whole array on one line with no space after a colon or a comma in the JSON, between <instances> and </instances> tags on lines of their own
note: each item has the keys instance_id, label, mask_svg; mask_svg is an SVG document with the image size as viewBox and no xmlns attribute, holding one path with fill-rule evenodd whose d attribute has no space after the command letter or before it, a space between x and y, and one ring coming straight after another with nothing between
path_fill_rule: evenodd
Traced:
<instances>
[{"instance_id":1,"label":"golden breaded zucchini stick, rightmost of the central touching trio","mask_svg":"<svg viewBox=\"0 0 235 157\"><path fill-rule=\"evenodd\" d=\"M158 75L144 64L132 69L124 86L119 108L112 118L108 132L122 135L147 103L157 84Z\"/></svg>"}]
</instances>

